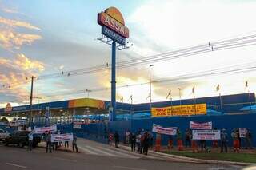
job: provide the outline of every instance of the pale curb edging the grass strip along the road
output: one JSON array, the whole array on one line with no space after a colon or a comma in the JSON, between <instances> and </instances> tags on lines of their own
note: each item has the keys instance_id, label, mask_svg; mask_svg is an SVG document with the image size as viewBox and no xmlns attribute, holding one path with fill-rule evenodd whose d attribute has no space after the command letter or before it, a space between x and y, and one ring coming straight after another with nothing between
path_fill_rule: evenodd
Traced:
<instances>
[{"instance_id":1,"label":"pale curb edging the grass strip along the road","mask_svg":"<svg viewBox=\"0 0 256 170\"><path fill-rule=\"evenodd\" d=\"M125 148L126 150L129 148L125 145L121 145L122 148ZM226 160L202 160L198 158L190 158L186 156L176 156L172 154L167 154L167 153L162 153L162 152L155 152L155 151L149 151L153 155L158 155L158 156L164 156L166 158L173 158L177 160L181 160L182 162L193 162L197 164L229 164L229 165L239 165L239 166L248 166L254 163L244 163L244 162L233 162L233 161L226 161Z\"/></svg>"}]
</instances>

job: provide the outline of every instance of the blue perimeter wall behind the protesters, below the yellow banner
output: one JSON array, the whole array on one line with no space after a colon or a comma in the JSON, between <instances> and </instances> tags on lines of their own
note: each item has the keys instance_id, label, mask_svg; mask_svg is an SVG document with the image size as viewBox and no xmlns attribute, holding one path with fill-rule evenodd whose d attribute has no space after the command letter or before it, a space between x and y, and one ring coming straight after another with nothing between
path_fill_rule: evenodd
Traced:
<instances>
[{"instance_id":1,"label":"blue perimeter wall behind the protesters, below the yellow banner","mask_svg":"<svg viewBox=\"0 0 256 170\"><path fill-rule=\"evenodd\" d=\"M151 118L143 120L130 120L130 121L114 121L109 122L106 125L107 131L118 133L123 140L124 132L126 129L132 132L137 132L139 128L148 129L151 131L153 124L162 125L163 127L178 127L182 130L182 135L184 139L184 132L186 128L189 128L190 121L196 122L206 122L212 121L213 128L226 128L226 132L229 136L229 145L232 145L232 138L230 136L234 128L249 128L253 136L253 144L256 146L256 114L242 114L242 115L224 115L224 116L204 116L204 117L160 117ZM98 134L98 136L104 136L105 124L90 124L84 125L84 127L79 130L79 132L89 132L91 134ZM167 144L167 137L163 136L162 144ZM210 141L209 141L210 142ZM174 141L175 144L175 141ZM244 146L244 141L242 140L242 146Z\"/></svg>"}]
</instances>

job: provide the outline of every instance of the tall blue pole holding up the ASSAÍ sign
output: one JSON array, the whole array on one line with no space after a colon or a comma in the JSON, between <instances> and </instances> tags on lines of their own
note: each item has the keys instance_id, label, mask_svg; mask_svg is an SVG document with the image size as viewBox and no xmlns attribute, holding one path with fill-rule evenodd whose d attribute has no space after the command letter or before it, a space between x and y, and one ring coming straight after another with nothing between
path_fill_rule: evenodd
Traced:
<instances>
[{"instance_id":1,"label":"tall blue pole holding up the ASSA\u00cd sign","mask_svg":"<svg viewBox=\"0 0 256 170\"><path fill-rule=\"evenodd\" d=\"M112 68L111 68L111 106L113 108L113 112L111 115L110 121L115 121L115 109L116 109L116 103L115 103L115 96L116 96L116 81L115 81L115 52L116 52L116 47L115 47L115 42L112 42Z\"/></svg>"}]
</instances>

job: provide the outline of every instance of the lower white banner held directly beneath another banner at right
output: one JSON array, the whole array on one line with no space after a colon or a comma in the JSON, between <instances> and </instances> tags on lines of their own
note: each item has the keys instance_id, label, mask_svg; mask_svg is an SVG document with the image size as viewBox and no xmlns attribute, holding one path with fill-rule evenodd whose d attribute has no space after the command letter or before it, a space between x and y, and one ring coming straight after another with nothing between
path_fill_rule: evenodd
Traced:
<instances>
[{"instance_id":1,"label":"lower white banner held directly beneath another banner at right","mask_svg":"<svg viewBox=\"0 0 256 170\"><path fill-rule=\"evenodd\" d=\"M220 130L193 130L193 140L220 140Z\"/></svg>"}]
</instances>

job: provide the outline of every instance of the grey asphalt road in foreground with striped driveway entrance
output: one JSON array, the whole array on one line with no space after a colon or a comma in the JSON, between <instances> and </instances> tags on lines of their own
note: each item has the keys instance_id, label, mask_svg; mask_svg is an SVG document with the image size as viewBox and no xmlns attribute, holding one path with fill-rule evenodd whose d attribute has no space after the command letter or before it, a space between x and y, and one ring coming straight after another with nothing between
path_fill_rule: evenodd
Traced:
<instances>
[{"instance_id":1,"label":"grey asphalt road in foreground with striped driveway entrance","mask_svg":"<svg viewBox=\"0 0 256 170\"><path fill-rule=\"evenodd\" d=\"M82 153L56 151L46 153L44 148L28 151L26 148L0 145L0 169L16 170L218 170L240 169L234 166L216 164L192 164L164 160L155 160L154 156L142 156L138 153L114 149L104 144L88 140L79 140Z\"/></svg>"}]
</instances>

